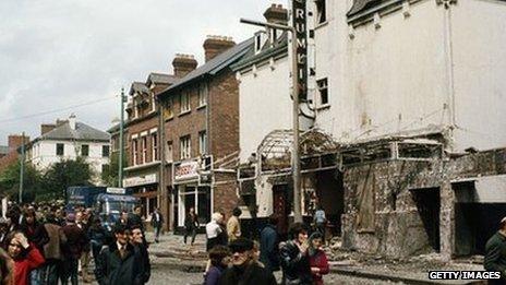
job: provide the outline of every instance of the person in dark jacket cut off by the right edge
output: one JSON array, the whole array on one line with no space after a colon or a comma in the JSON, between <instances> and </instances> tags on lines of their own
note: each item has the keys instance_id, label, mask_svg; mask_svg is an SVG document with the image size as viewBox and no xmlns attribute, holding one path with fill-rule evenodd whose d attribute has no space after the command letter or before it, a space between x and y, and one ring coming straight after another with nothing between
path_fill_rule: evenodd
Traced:
<instances>
[{"instance_id":1,"label":"person in dark jacket cut off by the right edge","mask_svg":"<svg viewBox=\"0 0 506 285\"><path fill-rule=\"evenodd\" d=\"M483 266L501 272L501 280L490 280L489 284L506 283L506 217L501 221L499 230L486 241Z\"/></svg>"}]
</instances>

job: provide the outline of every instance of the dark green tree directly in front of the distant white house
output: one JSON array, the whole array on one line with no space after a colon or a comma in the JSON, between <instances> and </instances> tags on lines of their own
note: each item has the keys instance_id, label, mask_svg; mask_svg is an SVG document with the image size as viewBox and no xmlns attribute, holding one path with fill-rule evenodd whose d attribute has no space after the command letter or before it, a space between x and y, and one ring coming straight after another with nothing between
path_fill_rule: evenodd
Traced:
<instances>
[{"instance_id":1,"label":"dark green tree directly in front of the distant white house","mask_svg":"<svg viewBox=\"0 0 506 285\"><path fill-rule=\"evenodd\" d=\"M37 200L62 199L70 186L93 186L93 176L92 167L83 157L52 164L44 175L44 195Z\"/></svg>"}]
</instances>

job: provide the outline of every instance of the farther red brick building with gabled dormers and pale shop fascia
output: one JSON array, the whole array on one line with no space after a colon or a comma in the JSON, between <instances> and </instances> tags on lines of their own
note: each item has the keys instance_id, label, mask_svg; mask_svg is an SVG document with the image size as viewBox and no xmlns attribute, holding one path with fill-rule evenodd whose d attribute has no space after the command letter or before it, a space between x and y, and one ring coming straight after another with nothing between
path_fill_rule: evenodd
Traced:
<instances>
[{"instance_id":1,"label":"farther red brick building with gabled dormers and pale shop fascia","mask_svg":"<svg viewBox=\"0 0 506 285\"><path fill-rule=\"evenodd\" d=\"M159 108L156 94L170 86L176 76L150 73L146 82L133 82L126 106L125 159L123 187L141 199L146 217L160 206ZM119 134L119 133L118 133ZM118 135L117 135L118 136ZM165 213L167 217L167 213Z\"/></svg>"}]
</instances>

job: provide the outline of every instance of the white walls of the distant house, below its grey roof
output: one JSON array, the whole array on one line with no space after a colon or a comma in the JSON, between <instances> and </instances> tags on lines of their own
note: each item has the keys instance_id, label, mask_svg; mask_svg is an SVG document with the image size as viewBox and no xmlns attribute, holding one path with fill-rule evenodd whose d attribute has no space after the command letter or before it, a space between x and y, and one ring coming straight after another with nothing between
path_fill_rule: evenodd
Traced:
<instances>
[{"instance_id":1,"label":"white walls of the distant house, below its grey roof","mask_svg":"<svg viewBox=\"0 0 506 285\"><path fill-rule=\"evenodd\" d=\"M63 143L63 155L57 155L57 143ZM48 169L52 164L61 162L62 159L76 159L81 155L81 145L89 145L89 155L86 162L89 163L93 171L96 174L94 181L100 182L101 167L109 164L109 157L103 157L103 145L110 143L97 142L70 142L70 141L37 141L32 145L31 163L39 170Z\"/></svg>"}]
</instances>

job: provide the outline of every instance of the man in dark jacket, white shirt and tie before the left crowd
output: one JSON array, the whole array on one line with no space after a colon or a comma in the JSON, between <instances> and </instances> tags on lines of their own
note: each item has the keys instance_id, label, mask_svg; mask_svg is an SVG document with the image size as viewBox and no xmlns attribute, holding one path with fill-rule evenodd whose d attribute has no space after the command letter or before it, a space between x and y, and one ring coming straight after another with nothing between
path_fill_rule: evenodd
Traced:
<instances>
[{"instance_id":1,"label":"man in dark jacket, white shirt and tie before the left crowd","mask_svg":"<svg viewBox=\"0 0 506 285\"><path fill-rule=\"evenodd\" d=\"M100 252L95 276L100 285L138 285L143 283L141 253L130 240L124 225L115 227L116 241Z\"/></svg>"}]
</instances>

